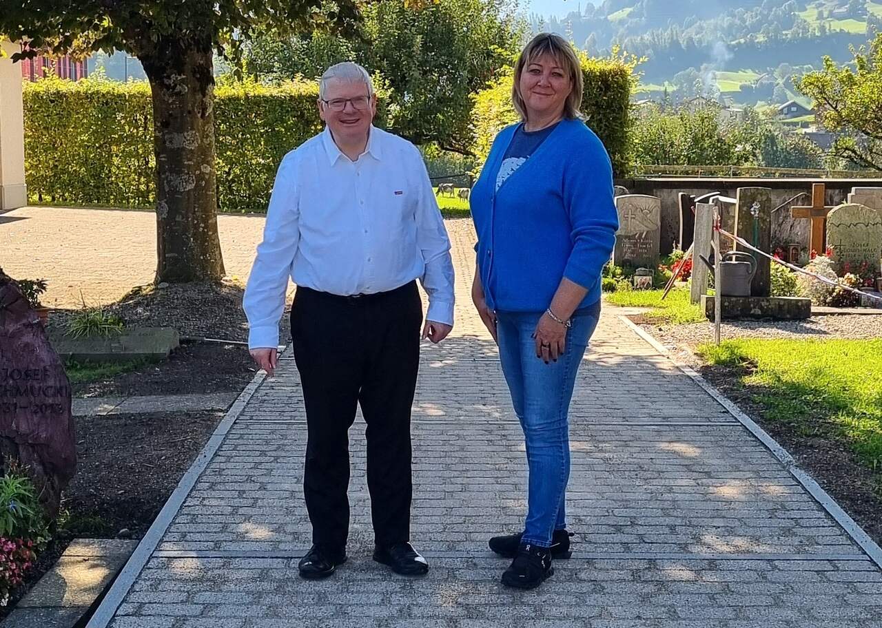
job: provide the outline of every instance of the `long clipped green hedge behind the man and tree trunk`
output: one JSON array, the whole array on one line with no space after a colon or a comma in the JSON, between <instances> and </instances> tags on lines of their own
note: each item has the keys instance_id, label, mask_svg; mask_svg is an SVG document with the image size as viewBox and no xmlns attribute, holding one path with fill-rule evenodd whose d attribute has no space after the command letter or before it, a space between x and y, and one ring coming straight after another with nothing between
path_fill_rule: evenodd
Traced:
<instances>
[{"instance_id":1,"label":"long clipped green hedge behind the man and tree trunk","mask_svg":"<svg viewBox=\"0 0 882 628\"><path fill-rule=\"evenodd\" d=\"M215 88L218 204L263 212L282 156L321 130L318 86ZM153 112L146 82L27 83L25 168L32 201L153 206Z\"/></svg>"}]
</instances>

